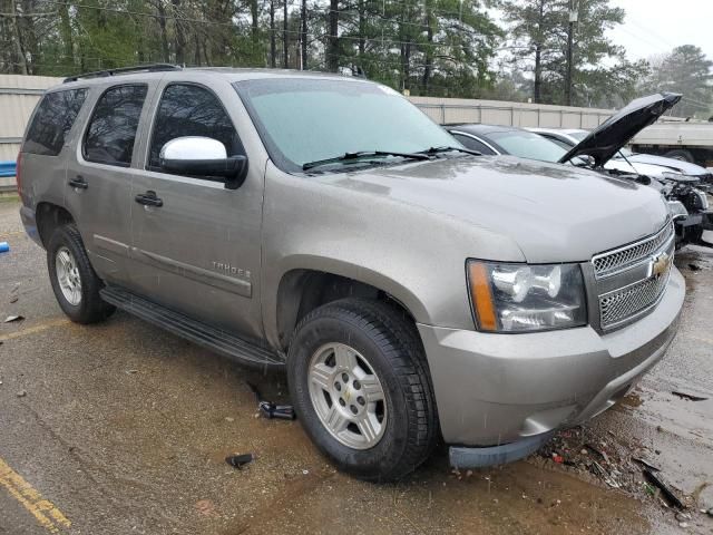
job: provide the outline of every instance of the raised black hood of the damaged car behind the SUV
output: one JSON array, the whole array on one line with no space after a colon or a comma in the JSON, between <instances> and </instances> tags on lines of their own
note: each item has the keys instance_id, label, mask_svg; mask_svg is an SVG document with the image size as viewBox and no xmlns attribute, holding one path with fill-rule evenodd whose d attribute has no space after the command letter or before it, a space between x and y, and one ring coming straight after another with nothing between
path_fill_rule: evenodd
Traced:
<instances>
[{"instance_id":1,"label":"raised black hood of the damaged car behind the SUV","mask_svg":"<svg viewBox=\"0 0 713 535\"><path fill-rule=\"evenodd\" d=\"M661 93L633 100L572 147L559 163L565 164L575 156L592 156L595 166L602 167L636 134L675 106L681 97L675 93Z\"/></svg>"}]
</instances>

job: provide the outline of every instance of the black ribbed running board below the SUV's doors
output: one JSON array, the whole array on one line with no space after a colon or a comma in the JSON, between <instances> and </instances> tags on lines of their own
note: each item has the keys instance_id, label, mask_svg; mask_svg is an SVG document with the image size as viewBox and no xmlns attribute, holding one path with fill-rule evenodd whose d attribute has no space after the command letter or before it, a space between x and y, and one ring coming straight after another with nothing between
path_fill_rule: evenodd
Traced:
<instances>
[{"instance_id":1,"label":"black ribbed running board below the SUV's doors","mask_svg":"<svg viewBox=\"0 0 713 535\"><path fill-rule=\"evenodd\" d=\"M193 320L120 288L106 286L99 293L107 303L242 364L261 368L284 366L284 359L267 348Z\"/></svg>"}]
</instances>

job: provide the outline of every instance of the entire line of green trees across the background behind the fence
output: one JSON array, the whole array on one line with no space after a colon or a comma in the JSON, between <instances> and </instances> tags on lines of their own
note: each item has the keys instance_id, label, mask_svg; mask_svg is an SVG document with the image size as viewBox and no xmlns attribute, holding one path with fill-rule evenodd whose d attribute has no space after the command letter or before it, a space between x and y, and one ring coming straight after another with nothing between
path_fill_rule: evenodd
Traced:
<instances>
[{"instance_id":1,"label":"entire line of green trees across the background behind the fence","mask_svg":"<svg viewBox=\"0 0 713 535\"><path fill-rule=\"evenodd\" d=\"M361 68L411 95L563 101L575 0L287 1L286 29L284 1L0 0L0 72L62 76L147 62ZM573 104L621 106L646 78L647 87L699 103L686 100L686 113L710 108L711 62L700 49L680 47L648 76L646 62L628 61L606 37L624 11L609 0L577 3ZM510 64L496 67L504 50Z\"/></svg>"}]
</instances>

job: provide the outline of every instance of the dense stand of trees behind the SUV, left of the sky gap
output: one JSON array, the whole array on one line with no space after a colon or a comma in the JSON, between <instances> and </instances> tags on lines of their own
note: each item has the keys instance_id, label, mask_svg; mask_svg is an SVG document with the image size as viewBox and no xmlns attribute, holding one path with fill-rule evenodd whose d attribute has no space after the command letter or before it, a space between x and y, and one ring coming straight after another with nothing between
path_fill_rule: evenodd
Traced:
<instances>
[{"instance_id":1,"label":"dense stand of trees behind the SUV, left of the sky gap","mask_svg":"<svg viewBox=\"0 0 713 535\"><path fill-rule=\"evenodd\" d=\"M502 33L485 7L496 0L279 1L0 0L0 71L360 67L416 95L478 97L495 87Z\"/></svg>"}]
</instances>

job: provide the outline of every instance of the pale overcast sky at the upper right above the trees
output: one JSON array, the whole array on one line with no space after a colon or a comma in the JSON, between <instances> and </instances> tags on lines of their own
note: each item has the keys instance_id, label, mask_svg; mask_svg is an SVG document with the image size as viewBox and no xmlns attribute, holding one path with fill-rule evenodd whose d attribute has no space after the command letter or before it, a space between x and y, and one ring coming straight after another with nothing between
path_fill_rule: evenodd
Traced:
<instances>
[{"instance_id":1,"label":"pale overcast sky at the upper right above the trees","mask_svg":"<svg viewBox=\"0 0 713 535\"><path fill-rule=\"evenodd\" d=\"M624 8L624 25L609 31L629 59L695 45L713 59L713 0L611 0Z\"/></svg>"}]
</instances>

